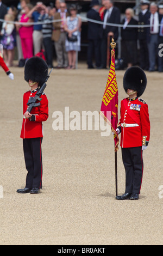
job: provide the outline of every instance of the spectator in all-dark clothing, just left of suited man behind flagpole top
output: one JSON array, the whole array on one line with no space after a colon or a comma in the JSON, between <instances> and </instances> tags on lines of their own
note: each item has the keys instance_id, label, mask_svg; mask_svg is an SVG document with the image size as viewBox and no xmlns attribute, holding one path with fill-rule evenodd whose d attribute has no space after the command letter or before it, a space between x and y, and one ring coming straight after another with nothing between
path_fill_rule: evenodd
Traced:
<instances>
[{"instance_id":1,"label":"spectator in all-dark clothing, just left of suited man behind flagpole top","mask_svg":"<svg viewBox=\"0 0 163 256\"><path fill-rule=\"evenodd\" d=\"M95 21L101 22L101 17L99 16L99 2L98 0L92 0L91 10L87 12L87 18ZM96 68L99 69L101 66L101 39L102 39L102 25L99 23L88 21L88 31L87 39L89 40L89 45L87 48L87 65L88 69L93 69L92 64L93 53L95 53L95 64Z\"/></svg>"}]
</instances>

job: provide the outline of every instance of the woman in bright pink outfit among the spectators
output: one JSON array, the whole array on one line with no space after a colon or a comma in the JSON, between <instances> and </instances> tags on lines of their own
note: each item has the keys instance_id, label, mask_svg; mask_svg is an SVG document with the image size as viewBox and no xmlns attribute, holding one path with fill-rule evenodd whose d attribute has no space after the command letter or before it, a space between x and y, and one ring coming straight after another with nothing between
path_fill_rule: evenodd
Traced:
<instances>
[{"instance_id":1,"label":"woman in bright pink outfit among the spectators","mask_svg":"<svg viewBox=\"0 0 163 256\"><path fill-rule=\"evenodd\" d=\"M33 22L33 20L26 16L32 8L33 6L31 4L27 4L24 8L25 13L22 14L20 22L24 22L26 24L20 25L18 30L21 38L24 59L33 57L33 25L28 25L28 22Z\"/></svg>"}]
</instances>

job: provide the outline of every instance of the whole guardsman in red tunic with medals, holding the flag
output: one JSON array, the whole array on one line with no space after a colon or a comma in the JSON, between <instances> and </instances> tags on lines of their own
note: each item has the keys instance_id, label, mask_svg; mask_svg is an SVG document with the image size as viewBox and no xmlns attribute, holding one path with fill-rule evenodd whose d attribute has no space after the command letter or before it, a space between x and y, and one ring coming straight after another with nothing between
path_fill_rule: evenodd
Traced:
<instances>
[{"instance_id":1,"label":"whole guardsman in red tunic with medals, holding the flag","mask_svg":"<svg viewBox=\"0 0 163 256\"><path fill-rule=\"evenodd\" d=\"M121 132L122 160L126 170L126 191L116 199L139 199L142 174L143 150L150 137L150 121L147 103L140 98L145 91L147 78L138 66L127 69L123 77L123 87L129 95L121 101L121 118L116 129Z\"/></svg>"}]
</instances>

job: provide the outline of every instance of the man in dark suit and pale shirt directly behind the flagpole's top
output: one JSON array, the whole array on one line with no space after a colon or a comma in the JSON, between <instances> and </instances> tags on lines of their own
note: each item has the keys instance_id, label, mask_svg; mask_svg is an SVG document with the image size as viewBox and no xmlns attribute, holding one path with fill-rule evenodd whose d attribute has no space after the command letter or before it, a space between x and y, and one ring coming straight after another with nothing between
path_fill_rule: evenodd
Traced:
<instances>
[{"instance_id":1,"label":"man in dark suit and pale shirt directly behind the flagpole's top","mask_svg":"<svg viewBox=\"0 0 163 256\"><path fill-rule=\"evenodd\" d=\"M114 7L112 0L104 0L104 20L103 20L103 36L102 36L102 68L106 68L107 42L108 36L114 38L115 42L118 38L118 27L108 26L106 23L120 24L120 10ZM116 48L117 51L117 48ZM116 55L116 52L115 52Z\"/></svg>"}]
</instances>

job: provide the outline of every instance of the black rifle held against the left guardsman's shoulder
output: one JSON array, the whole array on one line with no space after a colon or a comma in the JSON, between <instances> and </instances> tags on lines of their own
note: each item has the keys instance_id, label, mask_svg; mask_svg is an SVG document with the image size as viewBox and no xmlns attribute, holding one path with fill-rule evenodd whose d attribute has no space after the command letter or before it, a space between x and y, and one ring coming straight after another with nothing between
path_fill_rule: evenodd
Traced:
<instances>
[{"instance_id":1,"label":"black rifle held against the left guardsman's shoulder","mask_svg":"<svg viewBox=\"0 0 163 256\"><path fill-rule=\"evenodd\" d=\"M27 102L27 105L29 106L29 107L27 108L27 111L28 111L29 113L32 111L33 107L38 107L38 106L41 105L40 102L37 102L37 103L36 103L36 101L37 101L37 100L39 100L39 101L42 100L42 98L40 98L40 96L42 95L43 91L44 91L45 88L46 88L46 82L47 82L48 78L50 77L50 74L51 74L52 70L53 70L53 69L51 69L51 71L49 72L49 74L48 74L48 76L47 76L45 82L42 84L42 86L40 87L40 89L37 90L36 95L35 95L34 97L30 97L30 98L29 98L29 100L28 100L28 102Z\"/></svg>"}]
</instances>

